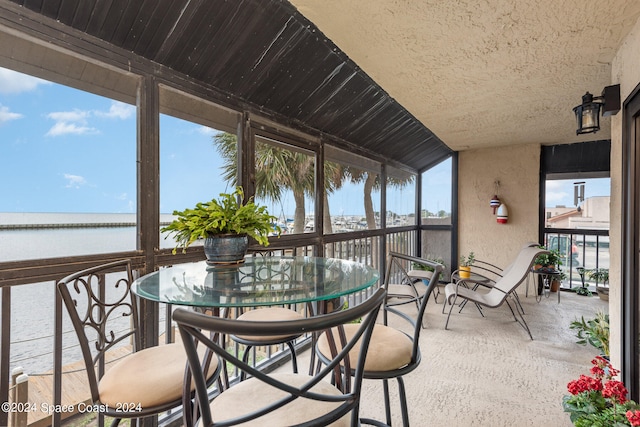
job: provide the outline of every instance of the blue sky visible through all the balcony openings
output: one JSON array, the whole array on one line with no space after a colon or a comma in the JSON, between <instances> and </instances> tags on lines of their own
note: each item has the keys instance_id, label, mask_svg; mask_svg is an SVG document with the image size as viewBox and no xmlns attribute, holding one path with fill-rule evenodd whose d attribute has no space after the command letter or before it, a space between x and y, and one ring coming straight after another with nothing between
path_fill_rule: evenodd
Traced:
<instances>
[{"instance_id":1,"label":"blue sky visible through all the balcony openings","mask_svg":"<svg viewBox=\"0 0 640 427\"><path fill-rule=\"evenodd\" d=\"M135 119L132 105L0 68L0 212L135 212ZM216 132L161 117L163 213L229 190L212 144ZM587 197L608 195L608 180L599 181L588 180ZM572 183L549 183L547 206L573 206ZM430 171L423 188L427 210L450 210L446 164ZM390 196L402 205L398 213L411 210L412 190ZM345 185L332 197L332 214L363 215L354 202L361 199L361 190ZM275 215L293 214L293 197L268 205Z\"/></svg>"}]
</instances>

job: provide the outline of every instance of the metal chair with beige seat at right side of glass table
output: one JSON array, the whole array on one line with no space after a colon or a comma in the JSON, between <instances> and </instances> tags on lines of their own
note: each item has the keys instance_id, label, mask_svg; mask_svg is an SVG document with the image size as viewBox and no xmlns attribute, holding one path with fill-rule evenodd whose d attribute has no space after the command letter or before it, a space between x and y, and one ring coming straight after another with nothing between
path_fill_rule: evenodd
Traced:
<instances>
[{"instance_id":1,"label":"metal chair with beige seat at right side of glass table","mask_svg":"<svg viewBox=\"0 0 640 427\"><path fill-rule=\"evenodd\" d=\"M411 298L403 298L400 303L385 301L383 314L384 324L376 324L373 329L371 342L369 343L369 354L364 365L364 378L372 380L382 380L384 389L384 406L386 415L386 424L371 418L361 418L363 424L374 426L390 426L391 425L391 405L389 398L389 380L396 379L398 383L398 394L400 398L400 408L402 412L402 423L404 426L409 425L409 411L407 408L407 395L404 387L403 376L418 367L421 361L420 355L420 331L422 330L422 321L427 302L438 286L440 275L444 266L430 260L416 258L404 254L390 252L387 260L387 269L385 274L385 289L397 289L393 286L396 281L403 281L406 277L406 265L408 263L421 264L433 268L431 278L424 293L419 293ZM401 274L393 274L402 272ZM406 286L406 285L403 285ZM400 310L400 306L404 304L418 303L418 314L412 317ZM389 314L398 316L402 321L408 322L413 333L407 334L394 327L388 326ZM344 325L347 338L353 336L356 325ZM319 339L316 347L318 358L323 363L327 363L331 354L331 343L323 336ZM355 372L352 371L352 374Z\"/></svg>"}]
</instances>

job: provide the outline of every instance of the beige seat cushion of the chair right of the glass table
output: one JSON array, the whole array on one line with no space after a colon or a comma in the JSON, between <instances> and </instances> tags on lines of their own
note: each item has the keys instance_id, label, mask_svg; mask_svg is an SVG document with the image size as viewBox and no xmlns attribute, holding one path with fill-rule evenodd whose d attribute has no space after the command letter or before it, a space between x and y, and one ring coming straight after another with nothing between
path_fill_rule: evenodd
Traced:
<instances>
[{"instance_id":1,"label":"beige seat cushion of the chair right of the glass table","mask_svg":"<svg viewBox=\"0 0 640 427\"><path fill-rule=\"evenodd\" d=\"M344 332L347 341L354 336L360 325L350 323L344 325ZM338 350L342 348L339 342L339 335L334 331L334 338L337 341ZM326 334L322 334L318 340L318 350L331 359L329 355L329 341ZM358 361L360 346L356 344L354 351L349 352L349 362L355 367ZM371 335L371 342L367 351L367 358L364 363L364 370L367 372L386 372L400 369L411 362L411 353L413 352L413 341L404 333L389 326L376 324Z\"/></svg>"}]
</instances>

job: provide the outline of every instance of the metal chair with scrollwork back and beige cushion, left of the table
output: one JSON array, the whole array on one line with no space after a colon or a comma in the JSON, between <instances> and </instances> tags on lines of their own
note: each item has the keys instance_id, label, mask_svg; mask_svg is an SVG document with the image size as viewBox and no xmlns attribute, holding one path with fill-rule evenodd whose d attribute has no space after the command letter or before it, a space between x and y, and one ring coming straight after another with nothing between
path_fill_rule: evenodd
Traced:
<instances>
[{"instance_id":1,"label":"metal chair with scrollwork back and beige cushion, left of the table","mask_svg":"<svg viewBox=\"0 0 640 427\"><path fill-rule=\"evenodd\" d=\"M187 355L181 343L141 349L131 284L128 260L89 268L58 282L82 350L91 402L103 409L100 415L114 418L112 426L123 418L144 418L177 408L183 404L185 390ZM118 348L128 347L131 353L114 356ZM220 372L217 362L211 360L209 382Z\"/></svg>"}]
</instances>

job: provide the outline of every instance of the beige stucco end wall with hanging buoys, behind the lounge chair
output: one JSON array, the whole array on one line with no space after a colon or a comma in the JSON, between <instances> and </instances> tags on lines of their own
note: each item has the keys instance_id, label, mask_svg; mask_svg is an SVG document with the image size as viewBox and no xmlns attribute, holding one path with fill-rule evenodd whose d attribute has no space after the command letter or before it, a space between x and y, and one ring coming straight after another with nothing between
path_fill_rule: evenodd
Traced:
<instances>
[{"instance_id":1,"label":"beige stucco end wall with hanging buoys, behind the lounge chair","mask_svg":"<svg viewBox=\"0 0 640 427\"><path fill-rule=\"evenodd\" d=\"M505 267L524 243L538 240L540 146L463 151L459 162L460 253ZM509 210L506 224L489 207L495 181Z\"/></svg>"}]
</instances>

